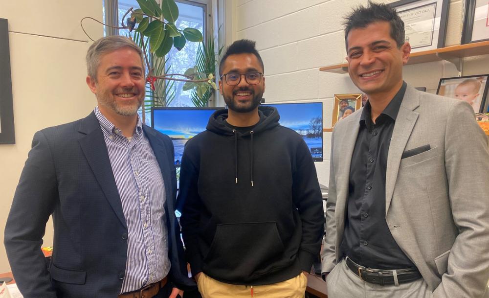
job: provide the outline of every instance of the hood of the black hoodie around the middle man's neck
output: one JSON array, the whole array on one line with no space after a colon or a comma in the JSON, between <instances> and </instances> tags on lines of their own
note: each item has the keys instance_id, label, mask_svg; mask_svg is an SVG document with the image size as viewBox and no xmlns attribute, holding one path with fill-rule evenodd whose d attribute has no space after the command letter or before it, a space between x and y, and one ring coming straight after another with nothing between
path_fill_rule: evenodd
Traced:
<instances>
[{"instance_id":1,"label":"hood of the black hoodie around the middle man's neck","mask_svg":"<svg viewBox=\"0 0 489 298\"><path fill-rule=\"evenodd\" d=\"M260 122L258 122L258 124L253 128L253 132L255 134L272 129L279 125L278 120L280 119L280 115L278 115L277 109L274 107L259 106L258 115L260 115ZM233 129L225 124L226 119L227 109L214 112L207 123L207 130L224 136L234 136L235 133L233 132ZM247 132L242 134L242 136L249 134L250 133Z\"/></svg>"}]
</instances>

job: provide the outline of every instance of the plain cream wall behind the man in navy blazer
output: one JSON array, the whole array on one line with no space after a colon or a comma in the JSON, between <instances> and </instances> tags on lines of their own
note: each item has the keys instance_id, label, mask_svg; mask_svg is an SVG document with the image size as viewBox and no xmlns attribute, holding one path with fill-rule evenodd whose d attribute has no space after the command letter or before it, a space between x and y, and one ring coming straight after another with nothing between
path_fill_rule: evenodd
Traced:
<instances>
[{"instance_id":1,"label":"plain cream wall behind the man in navy blazer","mask_svg":"<svg viewBox=\"0 0 489 298\"><path fill-rule=\"evenodd\" d=\"M0 18L9 25L16 140L0 145L0 273L10 271L3 229L32 136L84 117L96 105L85 84L90 43L80 20L86 16L102 20L102 0L0 1ZM93 39L102 36L101 25L86 24ZM44 245L52 245L51 223Z\"/></svg>"}]
</instances>

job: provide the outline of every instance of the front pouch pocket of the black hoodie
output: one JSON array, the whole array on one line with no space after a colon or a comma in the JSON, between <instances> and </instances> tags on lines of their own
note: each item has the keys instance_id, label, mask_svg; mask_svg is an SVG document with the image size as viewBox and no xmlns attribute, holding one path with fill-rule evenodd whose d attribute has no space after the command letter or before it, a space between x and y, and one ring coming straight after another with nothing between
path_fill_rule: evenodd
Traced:
<instances>
[{"instance_id":1,"label":"front pouch pocket of the black hoodie","mask_svg":"<svg viewBox=\"0 0 489 298\"><path fill-rule=\"evenodd\" d=\"M246 281L278 265L274 263L281 261L283 252L275 222L220 224L204 259L204 271Z\"/></svg>"}]
</instances>

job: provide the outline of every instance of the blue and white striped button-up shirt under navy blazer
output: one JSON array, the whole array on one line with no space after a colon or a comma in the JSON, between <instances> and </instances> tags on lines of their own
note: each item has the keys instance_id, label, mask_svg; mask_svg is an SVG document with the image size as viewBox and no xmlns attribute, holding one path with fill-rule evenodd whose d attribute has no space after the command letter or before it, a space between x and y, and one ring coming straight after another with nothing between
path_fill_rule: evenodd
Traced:
<instances>
[{"instance_id":1,"label":"blue and white striped button-up shirt under navy blazer","mask_svg":"<svg viewBox=\"0 0 489 298\"><path fill-rule=\"evenodd\" d=\"M163 279L170 271L163 176L137 118L133 138L126 138L98 107L112 173L128 228L126 273L119 294Z\"/></svg>"}]
</instances>

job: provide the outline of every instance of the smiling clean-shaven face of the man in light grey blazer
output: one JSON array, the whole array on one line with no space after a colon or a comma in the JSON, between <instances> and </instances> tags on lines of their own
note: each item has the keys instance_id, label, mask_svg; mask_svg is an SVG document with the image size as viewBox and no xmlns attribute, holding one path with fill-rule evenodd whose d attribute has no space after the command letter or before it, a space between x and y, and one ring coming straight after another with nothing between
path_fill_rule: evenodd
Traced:
<instances>
[{"instance_id":1,"label":"smiling clean-shaven face of the man in light grey blazer","mask_svg":"<svg viewBox=\"0 0 489 298\"><path fill-rule=\"evenodd\" d=\"M398 48L388 22L371 23L348 34L348 73L353 83L369 98L395 95L402 86L402 66L411 46Z\"/></svg>"}]
</instances>

